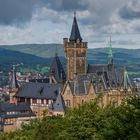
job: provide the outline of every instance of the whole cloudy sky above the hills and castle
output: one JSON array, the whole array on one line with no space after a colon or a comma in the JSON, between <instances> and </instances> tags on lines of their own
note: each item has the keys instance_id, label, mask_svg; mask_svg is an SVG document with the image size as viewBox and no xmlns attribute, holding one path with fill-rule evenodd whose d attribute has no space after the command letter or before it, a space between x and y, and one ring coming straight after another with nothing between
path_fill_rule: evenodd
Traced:
<instances>
[{"instance_id":1,"label":"whole cloudy sky above the hills and castle","mask_svg":"<svg viewBox=\"0 0 140 140\"><path fill-rule=\"evenodd\" d=\"M140 0L0 0L0 45L63 43L73 13L89 48L140 48Z\"/></svg>"}]
</instances>

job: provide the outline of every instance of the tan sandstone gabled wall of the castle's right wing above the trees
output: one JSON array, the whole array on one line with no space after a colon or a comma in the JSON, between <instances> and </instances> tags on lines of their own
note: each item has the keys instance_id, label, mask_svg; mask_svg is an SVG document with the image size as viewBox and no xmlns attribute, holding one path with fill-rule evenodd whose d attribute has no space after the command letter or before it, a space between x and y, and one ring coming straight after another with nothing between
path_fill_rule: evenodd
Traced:
<instances>
[{"instance_id":1,"label":"tan sandstone gabled wall of the castle's right wing above the trees","mask_svg":"<svg viewBox=\"0 0 140 140\"><path fill-rule=\"evenodd\" d=\"M82 105L85 102L93 101L100 94L100 106L106 106L110 103L120 105L122 100L124 100L128 96L128 94L123 94L117 89L103 91L102 93L97 94L95 93L93 86L90 86L87 95L81 93L81 96L76 96L74 95L74 93L71 93L69 85L67 85L63 92L63 98L67 107L74 108ZM67 105L67 100L70 101L70 105Z\"/></svg>"}]
</instances>

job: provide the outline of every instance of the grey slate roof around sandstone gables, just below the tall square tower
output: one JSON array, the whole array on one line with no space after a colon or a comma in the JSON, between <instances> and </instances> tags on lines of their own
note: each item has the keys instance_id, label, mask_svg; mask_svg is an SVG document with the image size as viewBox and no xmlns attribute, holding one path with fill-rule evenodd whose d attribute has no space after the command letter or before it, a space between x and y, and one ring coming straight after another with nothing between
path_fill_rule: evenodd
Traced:
<instances>
[{"instance_id":1,"label":"grey slate roof around sandstone gables, just below the tall square tower","mask_svg":"<svg viewBox=\"0 0 140 140\"><path fill-rule=\"evenodd\" d=\"M101 92L99 85L102 85L103 88L105 87L103 77L96 73L78 74L74 81L69 82L72 93L77 96L86 95L90 84L93 84L94 87L96 87L96 93Z\"/></svg>"}]
</instances>

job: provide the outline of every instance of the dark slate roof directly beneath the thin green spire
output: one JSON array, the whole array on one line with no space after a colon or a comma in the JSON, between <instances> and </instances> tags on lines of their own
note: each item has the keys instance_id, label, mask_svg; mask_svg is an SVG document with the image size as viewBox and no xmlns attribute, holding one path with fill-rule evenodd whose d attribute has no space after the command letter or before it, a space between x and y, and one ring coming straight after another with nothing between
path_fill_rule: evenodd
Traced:
<instances>
[{"instance_id":1,"label":"dark slate roof directly beneath the thin green spire","mask_svg":"<svg viewBox=\"0 0 140 140\"><path fill-rule=\"evenodd\" d=\"M122 86L123 69L118 69L113 64L88 65L87 73L102 75L106 88L117 88Z\"/></svg>"}]
</instances>

